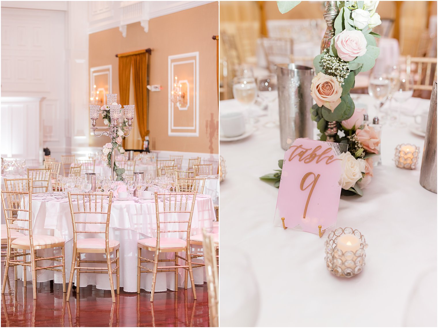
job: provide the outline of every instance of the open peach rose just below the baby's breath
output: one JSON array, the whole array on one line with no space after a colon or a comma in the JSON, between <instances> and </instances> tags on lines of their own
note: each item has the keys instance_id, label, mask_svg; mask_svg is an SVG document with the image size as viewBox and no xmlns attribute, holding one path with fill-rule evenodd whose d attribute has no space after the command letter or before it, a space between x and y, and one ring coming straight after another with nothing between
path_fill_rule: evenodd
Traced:
<instances>
[{"instance_id":1,"label":"open peach rose just below the baby's breath","mask_svg":"<svg viewBox=\"0 0 438 328\"><path fill-rule=\"evenodd\" d=\"M333 113L341 103L342 87L334 76L319 72L313 79L310 95L318 106L325 106Z\"/></svg>"}]
</instances>

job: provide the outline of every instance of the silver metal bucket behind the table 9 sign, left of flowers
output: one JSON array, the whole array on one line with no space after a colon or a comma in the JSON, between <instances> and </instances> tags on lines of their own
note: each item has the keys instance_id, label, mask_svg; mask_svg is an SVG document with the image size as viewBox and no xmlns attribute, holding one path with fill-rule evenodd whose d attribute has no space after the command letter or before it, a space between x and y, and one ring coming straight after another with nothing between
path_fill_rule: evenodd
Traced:
<instances>
[{"instance_id":1,"label":"silver metal bucket behind the table 9 sign, left of flowers","mask_svg":"<svg viewBox=\"0 0 438 328\"><path fill-rule=\"evenodd\" d=\"M277 64L280 144L287 149L287 137L313 139L310 109L313 99L310 87L314 70L311 67Z\"/></svg>"}]
</instances>

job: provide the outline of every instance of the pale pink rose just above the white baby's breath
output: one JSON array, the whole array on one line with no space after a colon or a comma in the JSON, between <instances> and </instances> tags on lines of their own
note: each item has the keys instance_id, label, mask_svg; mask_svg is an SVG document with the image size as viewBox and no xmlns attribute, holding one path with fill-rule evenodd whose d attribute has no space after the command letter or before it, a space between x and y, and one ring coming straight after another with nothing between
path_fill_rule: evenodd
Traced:
<instances>
[{"instance_id":1,"label":"pale pink rose just above the white baby's breath","mask_svg":"<svg viewBox=\"0 0 438 328\"><path fill-rule=\"evenodd\" d=\"M344 61L351 61L367 52L367 39L357 30L344 30L335 36L335 48Z\"/></svg>"}]
</instances>

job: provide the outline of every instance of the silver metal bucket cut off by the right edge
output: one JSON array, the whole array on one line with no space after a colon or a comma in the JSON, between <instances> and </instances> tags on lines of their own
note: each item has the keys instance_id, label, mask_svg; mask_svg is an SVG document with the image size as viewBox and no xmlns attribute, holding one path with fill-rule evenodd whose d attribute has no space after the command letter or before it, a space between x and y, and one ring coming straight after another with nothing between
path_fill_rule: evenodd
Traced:
<instances>
[{"instance_id":1,"label":"silver metal bucket cut off by the right edge","mask_svg":"<svg viewBox=\"0 0 438 328\"><path fill-rule=\"evenodd\" d=\"M427 190L437 193L437 81L434 81L427 118L420 184Z\"/></svg>"}]
</instances>

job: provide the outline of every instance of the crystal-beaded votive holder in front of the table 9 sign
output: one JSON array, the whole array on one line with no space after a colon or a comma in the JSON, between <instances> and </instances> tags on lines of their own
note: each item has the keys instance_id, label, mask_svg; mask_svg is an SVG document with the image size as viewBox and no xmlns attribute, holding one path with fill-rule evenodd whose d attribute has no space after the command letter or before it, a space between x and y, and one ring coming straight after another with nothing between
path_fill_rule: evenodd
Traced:
<instances>
[{"instance_id":1,"label":"crystal-beaded votive holder in front of the table 9 sign","mask_svg":"<svg viewBox=\"0 0 438 328\"><path fill-rule=\"evenodd\" d=\"M348 236L345 238L343 237L344 235ZM350 239L352 242L348 240L344 243L343 247L345 247L345 249L342 250L341 245L338 245L338 242L341 241L339 238ZM357 245L357 249L354 249L354 245ZM327 270L334 275L350 278L362 272L365 265L365 248L368 247L368 244L365 242L364 235L362 235L359 230L347 227L331 231L324 246L325 265L327 266ZM353 249L351 247L353 247Z\"/></svg>"}]
</instances>

